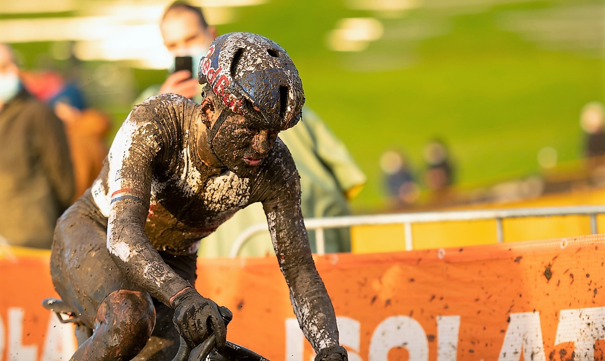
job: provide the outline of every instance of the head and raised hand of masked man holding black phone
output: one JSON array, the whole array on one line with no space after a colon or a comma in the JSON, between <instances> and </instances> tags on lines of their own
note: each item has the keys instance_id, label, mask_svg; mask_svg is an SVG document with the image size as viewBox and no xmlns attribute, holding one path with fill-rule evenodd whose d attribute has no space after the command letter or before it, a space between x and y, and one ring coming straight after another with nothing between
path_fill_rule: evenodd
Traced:
<instances>
[{"instance_id":1,"label":"head and raised hand of masked man holding black phone","mask_svg":"<svg viewBox=\"0 0 605 361\"><path fill-rule=\"evenodd\" d=\"M175 1L166 8L160 32L166 49L172 57L191 56L191 71L174 72L175 64L168 70L169 76L162 85L152 85L137 97L135 103L141 103L148 97L158 94L174 93L197 102L201 100L201 86L197 82L197 67L202 57L208 53L208 47L216 37L217 31L206 22L201 8L185 1Z\"/></svg>"}]
</instances>

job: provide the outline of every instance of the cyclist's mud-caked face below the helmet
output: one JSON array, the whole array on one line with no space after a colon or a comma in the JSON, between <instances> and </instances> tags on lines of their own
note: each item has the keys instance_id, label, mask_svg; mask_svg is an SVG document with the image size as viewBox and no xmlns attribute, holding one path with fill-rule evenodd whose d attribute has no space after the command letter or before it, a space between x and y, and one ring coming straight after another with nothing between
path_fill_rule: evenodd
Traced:
<instances>
[{"instance_id":1,"label":"cyclist's mud-caked face below the helmet","mask_svg":"<svg viewBox=\"0 0 605 361\"><path fill-rule=\"evenodd\" d=\"M229 111L212 140L212 149L229 170L246 175L263 163L275 145L278 132L279 129L260 128L253 120Z\"/></svg>"}]
</instances>

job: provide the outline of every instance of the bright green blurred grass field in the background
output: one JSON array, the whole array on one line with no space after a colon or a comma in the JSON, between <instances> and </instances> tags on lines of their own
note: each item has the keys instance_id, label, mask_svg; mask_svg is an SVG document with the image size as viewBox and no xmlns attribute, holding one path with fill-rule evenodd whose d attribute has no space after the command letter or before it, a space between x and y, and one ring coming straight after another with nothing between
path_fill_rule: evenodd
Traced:
<instances>
[{"instance_id":1,"label":"bright green blurred grass field in the background","mask_svg":"<svg viewBox=\"0 0 605 361\"><path fill-rule=\"evenodd\" d=\"M420 177L422 146L442 138L462 189L537 174L544 146L555 148L560 161L581 157L580 110L605 100L603 2L386 1L420 7L377 16L384 32L364 51L332 51L326 39L340 19L376 16L349 8L355 2L361 1L270 0L237 8L234 21L218 31L260 33L286 48L307 105L368 175L353 202L356 212L384 209L378 159L393 146L407 153ZM17 47L41 53L48 44ZM166 75L128 71L131 99L102 92L93 99L113 115L114 131L138 91Z\"/></svg>"}]
</instances>

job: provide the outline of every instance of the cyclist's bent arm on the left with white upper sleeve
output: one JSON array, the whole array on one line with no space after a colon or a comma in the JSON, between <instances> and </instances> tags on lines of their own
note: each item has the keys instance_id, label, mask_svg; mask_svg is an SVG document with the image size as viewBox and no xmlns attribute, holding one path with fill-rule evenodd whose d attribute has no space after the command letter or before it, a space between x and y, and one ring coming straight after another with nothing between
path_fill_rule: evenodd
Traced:
<instances>
[{"instance_id":1,"label":"cyclist's bent arm on the left with white upper sleeve","mask_svg":"<svg viewBox=\"0 0 605 361\"><path fill-rule=\"evenodd\" d=\"M163 146L156 112L153 106L135 108L111 146L107 247L130 281L169 305L171 297L189 283L165 264L144 230L152 164Z\"/></svg>"}]
</instances>

